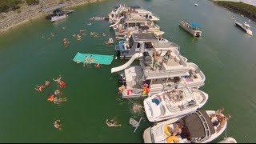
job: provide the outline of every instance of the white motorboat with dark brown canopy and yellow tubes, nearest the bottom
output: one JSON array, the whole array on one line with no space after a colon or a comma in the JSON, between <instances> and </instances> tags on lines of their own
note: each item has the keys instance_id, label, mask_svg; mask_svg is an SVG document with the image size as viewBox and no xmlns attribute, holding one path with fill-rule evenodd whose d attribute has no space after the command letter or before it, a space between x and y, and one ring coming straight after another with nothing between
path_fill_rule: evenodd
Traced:
<instances>
[{"instance_id":1,"label":"white motorboat with dark brown canopy and yellow tubes, nearest the bottom","mask_svg":"<svg viewBox=\"0 0 256 144\"><path fill-rule=\"evenodd\" d=\"M210 114L215 114L214 110L197 110L192 114L183 115L180 118L171 118L164 122L158 122L156 125L147 128L143 133L145 143L169 143L176 140L177 143L206 143L218 138L226 125L215 130L211 122ZM170 136L168 129L174 129L179 122L183 123L182 134Z\"/></svg>"}]
</instances>

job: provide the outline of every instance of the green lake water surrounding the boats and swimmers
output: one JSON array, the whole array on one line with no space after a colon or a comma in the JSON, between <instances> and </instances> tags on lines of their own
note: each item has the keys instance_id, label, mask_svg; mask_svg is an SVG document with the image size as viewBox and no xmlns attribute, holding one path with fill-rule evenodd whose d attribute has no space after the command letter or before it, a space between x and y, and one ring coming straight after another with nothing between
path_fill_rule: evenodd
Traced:
<instances>
[{"instance_id":1,"label":"green lake water surrounding the boats and swimmers","mask_svg":"<svg viewBox=\"0 0 256 144\"><path fill-rule=\"evenodd\" d=\"M189 62L196 63L206 75L206 84L201 90L210 98L204 108L216 110L225 107L225 114L231 114L227 135L238 142L255 142L255 36L246 35L231 21L233 15L240 22L247 21L246 18L208 1L185 0L120 0L78 6L69 18L61 22L51 23L40 18L2 34L0 142L143 142L143 130L151 123L143 119L142 126L133 133L129 118L138 120L145 114L134 114L131 111L133 104L118 98L118 74L110 74L112 67L125 61L114 59L111 65L99 69L73 62L77 52L115 54L114 46L105 45L108 38L114 38L108 22L86 24L90 23L90 17L104 16L119 3L139 5L161 17L158 25L165 31L164 38L181 46L181 54ZM192 38L178 27L181 20L200 23L202 38ZM66 30L62 30L62 26ZM250 26L255 32L256 25L250 23ZM80 29L87 29L87 35L78 42L72 35L78 34ZM56 35L48 40L51 32ZM90 32L104 32L107 37L93 38L89 36ZM42 34L46 38L42 38ZM63 38L70 40L67 49L63 48ZM59 89L51 80L59 74L66 82L62 97L68 102L56 106L46 98ZM49 87L42 93L34 90L45 80L51 82ZM106 119L114 116L118 117L122 127L106 126ZM61 119L62 131L53 125L58 118ZM214 142L224 137L222 134Z\"/></svg>"}]
</instances>

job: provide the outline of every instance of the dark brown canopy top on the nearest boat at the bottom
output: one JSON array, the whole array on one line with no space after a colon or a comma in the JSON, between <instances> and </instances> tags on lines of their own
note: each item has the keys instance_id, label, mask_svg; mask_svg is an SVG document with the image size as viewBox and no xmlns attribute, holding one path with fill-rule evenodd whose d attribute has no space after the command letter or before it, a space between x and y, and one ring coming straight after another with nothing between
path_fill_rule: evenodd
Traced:
<instances>
[{"instance_id":1,"label":"dark brown canopy top on the nearest boat at the bottom","mask_svg":"<svg viewBox=\"0 0 256 144\"><path fill-rule=\"evenodd\" d=\"M206 122L210 128L210 134L215 133L214 125L210 120L209 115L206 113L206 110L199 110L203 117L206 118ZM191 137L193 138L205 138L206 131L202 124L201 119L198 117L198 114L194 113L185 118L186 127L190 132Z\"/></svg>"}]
</instances>

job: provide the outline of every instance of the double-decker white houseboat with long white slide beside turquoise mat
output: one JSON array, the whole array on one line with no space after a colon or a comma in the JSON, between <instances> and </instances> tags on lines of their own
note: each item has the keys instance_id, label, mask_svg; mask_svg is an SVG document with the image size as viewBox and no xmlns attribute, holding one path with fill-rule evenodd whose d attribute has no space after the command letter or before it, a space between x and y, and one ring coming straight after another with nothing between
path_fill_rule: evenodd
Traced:
<instances>
[{"instance_id":1,"label":"double-decker white houseboat with long white slide beside turquoise mat","mask_svg":"<svg viewBox=\"0 0 256 144\"><path fill-rule=\"evenodd\" d=\"M144 43L142 43L144 45ZM137 49L134 46L134 50ZM179 46L172 42L149 42L146 49L134 51L130 60L122 66L114 67L111 73L122 71L120 79L126 84L122 91L122 98L136 98L150 96L166 90L195 88L204 85L205 75L198 66L179 53ZM167 63L162 60L166 52L170 50L170 58ZM158 51L160 54L158 64L154 64L153 54ZM162 51L162 53L161 53ZM139 66L130 66L135 59L139 59ZM125 81L125 82L124 82ZM148 84L150 92L142 94L143 85ZM131 91L129 92L128 91Z\"/></svg>"}]
</instances>

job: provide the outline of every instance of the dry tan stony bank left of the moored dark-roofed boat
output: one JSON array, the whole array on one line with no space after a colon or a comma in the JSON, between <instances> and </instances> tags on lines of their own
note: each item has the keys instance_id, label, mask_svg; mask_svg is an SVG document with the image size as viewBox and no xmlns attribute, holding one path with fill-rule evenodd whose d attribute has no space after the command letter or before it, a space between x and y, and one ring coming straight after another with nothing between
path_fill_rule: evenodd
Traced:
<instances>
[{"instance_id":1,"label":"dry tan stony bank left of the moored dark-roofed boat","mask_svg":"<svg viewBox=\"0 0 256 144\"><path fill-rule=\"evenodd\" d=\"M47 7L67 2L70 6L66 8L70 8L102 1L104 0L45 0L44 2ZM1 0L0 6L2 6L0 11L0 33L10 30L14 26L19 26L22 23L31 22L35 18L46 16L42 12L42 8L44 7L42 1Z\"/></svg>"}]
</instances>

